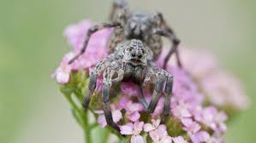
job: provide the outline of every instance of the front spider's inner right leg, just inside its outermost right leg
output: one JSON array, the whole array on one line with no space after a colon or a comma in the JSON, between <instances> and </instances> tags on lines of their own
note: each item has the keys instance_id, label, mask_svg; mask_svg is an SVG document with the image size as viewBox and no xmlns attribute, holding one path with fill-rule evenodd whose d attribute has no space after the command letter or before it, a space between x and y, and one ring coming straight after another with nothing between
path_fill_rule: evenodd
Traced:
<instances>
[{"instance_id":1,"label":"front spider's inner right leg, just inside its outermost right leg","mask_svg":"<svg viewBox=\"0 0 256 143\"><path fill-rule=\"evenodd\" d=\"M164 89L164 83L165 83L164 75L158 72L156 74L156 78L157 78L157 82L155 83L155 89L152 94L152 100L147 108L147 112L149 113L154 112L158 104L158 100L162 94L162 90Z\"/></svg>"}]
</instances>

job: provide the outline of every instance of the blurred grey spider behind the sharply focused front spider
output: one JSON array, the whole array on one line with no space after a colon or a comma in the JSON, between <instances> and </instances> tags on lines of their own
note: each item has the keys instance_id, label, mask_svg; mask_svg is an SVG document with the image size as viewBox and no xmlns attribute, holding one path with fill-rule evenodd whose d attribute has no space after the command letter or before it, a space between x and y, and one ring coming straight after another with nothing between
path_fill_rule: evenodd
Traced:
<instances>
[{"instance_id":1,"label":"blurred grey spider behind the sharply focused front spider","mask_svg":"<svg viewBox=\"0 0 256 143\"><path fill-rule=\"evenodd\" d=\"M128 4L125 0L116 0L113 3L110 21L92 26L87 31L86 39L80 53L76 54L74 58L69 61L69 64L79 58L81 54L85 53L87 43L94 32L110 27L115 27L110 35L107 46L110 54L115 50L117 43L136 38L140 39L140 41L146 44L146 47L152 50L153 60L157 60L163 49L161 37L167 37L172 42L172 47L165 56L164 69L166 68L167 62L170 60L170 56L174 53L176 54L177 65L182 67L177 50L180 40L176 37L172 28L165 22L163 15L161 13L131 13L128 11Z\"/></svg>"}]
</instances>

